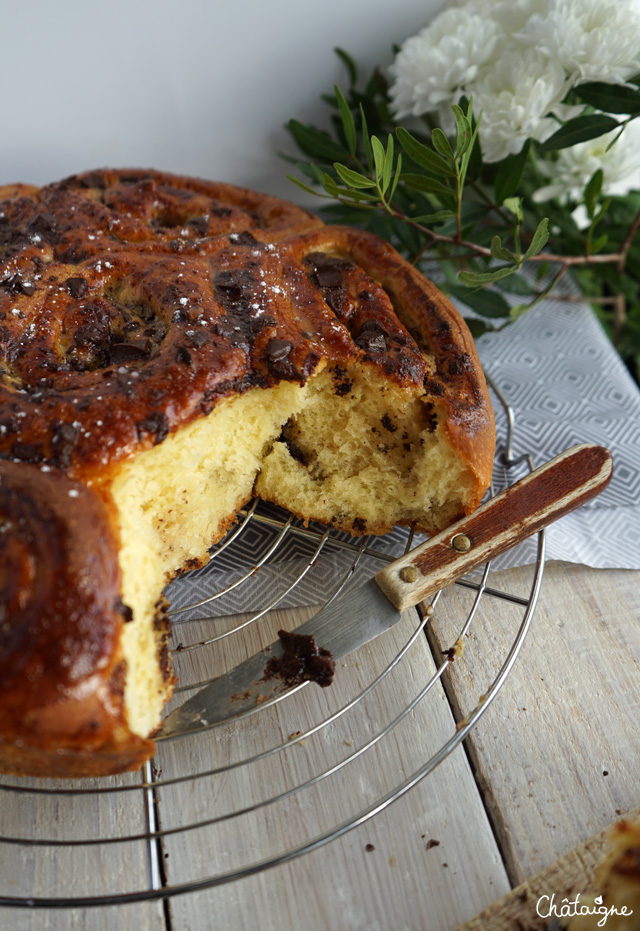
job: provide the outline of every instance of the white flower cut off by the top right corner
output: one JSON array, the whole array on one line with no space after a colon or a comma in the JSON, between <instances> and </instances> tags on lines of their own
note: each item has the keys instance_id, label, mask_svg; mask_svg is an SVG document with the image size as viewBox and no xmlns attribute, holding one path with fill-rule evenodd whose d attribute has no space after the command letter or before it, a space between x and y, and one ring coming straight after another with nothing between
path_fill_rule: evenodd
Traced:
<instances>
[{"instance_id":1,"label":"white flower cut off by the top right corner","mask_svg":"<svg viewBox=\"0 0 640 931\"><path fill-rule=\"evenodd\" d=\"M634 0L547 0L516 38L543 48L572 84L621 83L640 72L640 10Z\"/></svg>"}]
</instances>

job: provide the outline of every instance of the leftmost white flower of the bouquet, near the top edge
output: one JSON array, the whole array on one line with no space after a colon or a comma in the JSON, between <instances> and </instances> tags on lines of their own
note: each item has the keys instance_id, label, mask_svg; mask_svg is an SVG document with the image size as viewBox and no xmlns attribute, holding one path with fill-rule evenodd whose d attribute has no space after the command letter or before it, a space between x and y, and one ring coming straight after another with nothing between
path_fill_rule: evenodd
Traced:
<instances>
[{"instance_id":1,"label":"leftmost white flower of the bouquet, near the top edge","mask_svg":"<svg viewBox=\"0 0 640 931\"><path fill-rule=\"evenodd\" d=\"M501 35L485 13L445 10L430 26L408 39L390 73L392 108L397 118L438 112L444 128L452 123L451 104L470 87L490 61Z\"/></svg>"}]
</instances>

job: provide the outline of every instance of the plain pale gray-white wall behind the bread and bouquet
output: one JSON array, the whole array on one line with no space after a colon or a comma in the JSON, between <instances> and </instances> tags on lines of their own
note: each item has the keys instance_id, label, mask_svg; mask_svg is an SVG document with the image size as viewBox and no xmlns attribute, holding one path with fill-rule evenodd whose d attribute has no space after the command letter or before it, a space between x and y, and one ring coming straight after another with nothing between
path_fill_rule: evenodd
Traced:
<instances>
[{"instance_id":1,"label":"plain pale gray-white wall behind the bread and bouquet","mask_svg":"<svg viewBox=\"0 0 640 931\"><path fill-rule=\"evenodd\" d=\"M0 184L153 167L297 199L283 124L444 0L0 0Z\"/></svg>"}]
</instances>

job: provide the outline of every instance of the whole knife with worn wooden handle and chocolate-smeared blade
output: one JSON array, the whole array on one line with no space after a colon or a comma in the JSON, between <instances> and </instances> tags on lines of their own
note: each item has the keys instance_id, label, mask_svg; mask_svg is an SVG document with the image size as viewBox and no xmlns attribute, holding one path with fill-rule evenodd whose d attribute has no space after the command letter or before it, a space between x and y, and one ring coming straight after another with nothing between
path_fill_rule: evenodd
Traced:
<instances>
[{"instance_id":1,"label":"whole knife with worn wooden handle and chocolate-smeared blade","mask_svg":"<svg viewBox=\"0 0 640 931\"><path fill-rule=\"evenodd\" d=\"M321 656L311 662L320 666L330 662L325 651L334 660L346 656L393 627L403 611L595 497L612 473L611 454L602 446L566 450L331 602L292 631L289 642L317 644ZM167 716L155 739L246 716L291 691L295 684L283 671L290 637L281 632L281 639L200 689Z\"/></svg>"}]
</instances>

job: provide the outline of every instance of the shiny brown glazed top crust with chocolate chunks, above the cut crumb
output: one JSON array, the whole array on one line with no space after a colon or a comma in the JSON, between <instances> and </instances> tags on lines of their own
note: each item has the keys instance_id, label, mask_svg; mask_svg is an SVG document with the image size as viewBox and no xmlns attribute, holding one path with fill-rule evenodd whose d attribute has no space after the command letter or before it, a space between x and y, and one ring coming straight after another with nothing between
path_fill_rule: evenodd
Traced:
<instances>
[{"instance_id":1,"label":"shiny brown glazed top crust with chocolate chunks, above the cut crumb","mask_svg":"<svg viewBox=\"0 0 640 931\"><path fill-rule=\"evenodd\" d=\"M356 359L422 387L463 445L484 444L465 325L376 237L153 171L0 200L0 457L99 482L220 398Z\"/></svg>"}]
</instances>

